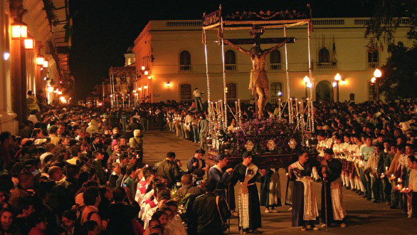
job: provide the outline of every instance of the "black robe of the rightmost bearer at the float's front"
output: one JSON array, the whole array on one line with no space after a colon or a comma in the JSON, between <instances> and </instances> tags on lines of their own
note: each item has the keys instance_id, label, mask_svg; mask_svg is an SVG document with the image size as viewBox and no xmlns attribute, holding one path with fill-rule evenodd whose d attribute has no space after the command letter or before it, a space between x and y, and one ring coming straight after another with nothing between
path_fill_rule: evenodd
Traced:
<instances>
[{"instance_id":1,"label":"black robe of the rightmost bearer at the float's front","mask_svg":"<svg viewBox=\"0 0 417 235\"><path fill-rule=\"evenodd\" d=\"M342 173L342 163L339 160L333 159L332 162L327 162L327 178L326 180L323 180L322 183L322 211L321 211L321 219L322 223L326 223L326 203L324 199L327 199L327 223L333 224L334 217L333 217L333 205L332 205L332 192L330 191L330 183L334 182L334 180L338 179L340 177L340 174ZM321 169L318 171L320 174L320 177L323 177ZM324 187L326 188L326 196L324 197Z\"/></svg>"}]
</instances>

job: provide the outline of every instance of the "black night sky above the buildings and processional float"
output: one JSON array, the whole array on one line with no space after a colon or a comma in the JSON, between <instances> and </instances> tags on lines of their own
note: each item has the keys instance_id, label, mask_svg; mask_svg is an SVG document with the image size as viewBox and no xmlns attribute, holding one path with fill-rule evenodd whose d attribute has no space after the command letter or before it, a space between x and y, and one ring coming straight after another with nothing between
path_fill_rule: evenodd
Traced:
<instances>
[{"instance_id":1,"label":"black night sky above the buildings and processional float","mask_svg":"<svg viewBox=\"0 0 417 235\"><path fill-rule=\"evenodd\" d=\"M152 19L201 19L218 9L287 9L312 6L313 17L371 16L372 0L253 0L160 1L70 0L73 42L70 70L75 77L75 98L85 98L101 84L110 66L123 66L123 54Z\"/></svg>"}]
</instances>

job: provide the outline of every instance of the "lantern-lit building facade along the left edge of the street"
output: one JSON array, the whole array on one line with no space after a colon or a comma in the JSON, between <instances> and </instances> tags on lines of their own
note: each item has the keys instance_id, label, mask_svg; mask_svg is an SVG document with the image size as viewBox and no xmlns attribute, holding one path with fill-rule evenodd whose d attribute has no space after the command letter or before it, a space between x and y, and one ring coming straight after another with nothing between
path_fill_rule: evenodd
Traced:
<instances>
[{"instance_id":1,"label":"lantern-lit building facade along the left edge of the street","mask_svg":"<svg viewBox=\"0 0 417 235\"><path fill-rule=\"evenodd\" d=\"M70 94L68 15L68 0L0 0L0 132L26 120L27 90L50 103Z\"/></svg>"}]
</instances>

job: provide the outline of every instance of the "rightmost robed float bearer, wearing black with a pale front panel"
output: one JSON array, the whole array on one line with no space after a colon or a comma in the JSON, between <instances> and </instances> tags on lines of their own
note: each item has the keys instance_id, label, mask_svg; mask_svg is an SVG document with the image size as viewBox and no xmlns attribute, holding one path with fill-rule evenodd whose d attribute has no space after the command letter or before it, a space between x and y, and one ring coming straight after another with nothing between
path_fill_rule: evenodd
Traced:
<instances>
[{"instance_id":1,"label":"rightmost robed float bearer, wearing black with a pale front panel","mask_svg":"<svg viewBox=\"0 0 417 235\"><path fill-rule=\"evenodd\" d=\"M334 160L332 149L324 150L324 160L322 160L322 227L331 224L340 224L346 227L346 209L343 204L342 182L340 172L342 163ZM326 218L327 217L327 218Z\"/></svg>"}]
</instances>

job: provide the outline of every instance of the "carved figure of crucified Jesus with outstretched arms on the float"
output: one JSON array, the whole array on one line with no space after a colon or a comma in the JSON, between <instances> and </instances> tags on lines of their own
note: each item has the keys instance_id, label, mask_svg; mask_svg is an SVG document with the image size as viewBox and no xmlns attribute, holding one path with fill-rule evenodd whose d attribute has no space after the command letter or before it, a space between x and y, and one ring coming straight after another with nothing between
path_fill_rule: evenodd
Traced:
<instances>
[{"instance_id":1,"label":"carved figure of crucified Jesus with outstretched arms on the float","mask_svg":"<svg viewBox=\"0 0 417 235\"><path fill-rule=\"evenodd\" d=\"M283 46L287 43L290 38L285 39L282 43L273 46L272 48L262 50L260 48L259 43L254 43L253 47L250 48L250 51L241 48L240 46L236 46L227 39L223 39L225 43L227 43L232 48L235 48L238 51L250 56L250 61L252 61L252 71L250 71L250 81L249 81L249 89L252 90L252 95L255 95L255 103L258 108L258 117L263 116L263 109L268 101L268 91L269 91L269 83L268 77L266 75L266 56Z\"/></svg>"}]
</instances>

